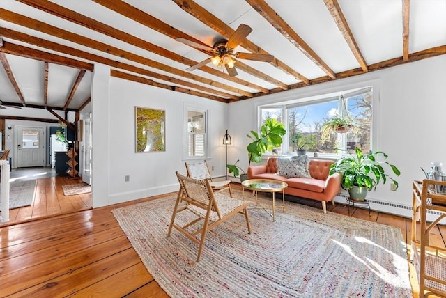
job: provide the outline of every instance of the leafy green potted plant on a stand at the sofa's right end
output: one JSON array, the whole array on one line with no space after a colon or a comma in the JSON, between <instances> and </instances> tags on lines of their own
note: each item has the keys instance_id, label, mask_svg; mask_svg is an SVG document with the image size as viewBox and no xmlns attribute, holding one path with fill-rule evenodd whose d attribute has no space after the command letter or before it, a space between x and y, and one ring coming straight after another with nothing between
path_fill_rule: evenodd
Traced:
<instances>
[{"instance_id":1,"label":"leafy green potted plant on a stand at the sofa's right end","mask_svg":"<svg viewBox=\"0 0 446 298\"><path fill-rule=\"evenodd\" d=\"M385 184L387 179L392 180L398 188L398 182L387 174L386 169L387 171L392 169L394 175L400 175L399 169L387 162L387 155L384 152L364 155L360 148L356 148L355 155L343 157L332 164L330 175L341 173L341 186L348 190L350 198L364 201L371 189L376 189L380 182Z\"/></svg>"}]
</instances>

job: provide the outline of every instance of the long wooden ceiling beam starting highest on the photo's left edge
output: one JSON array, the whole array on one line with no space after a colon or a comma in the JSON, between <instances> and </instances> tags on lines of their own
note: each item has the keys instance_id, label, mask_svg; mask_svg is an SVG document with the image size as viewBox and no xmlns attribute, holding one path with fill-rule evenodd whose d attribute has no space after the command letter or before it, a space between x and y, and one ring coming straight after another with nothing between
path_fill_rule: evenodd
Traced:
<instances>
[{"instance_id":1,"label":"long wooden ceiling beam starting highest on the photo's left edge","mask_svg":"<svg viewBox=\"0 0 446 298\"><path fill-rule=\"evenodd\" d=\"M13 22L14 24L20 24L21 26L25 26L29 29L47 33L51 36L56 36L58 38L68 40L70 42L75 42L79 45L84 45L85 47L89 47L91 49L96 49L100 52L112 54L116 57L120 57L120 58L124 58L124 59L130 60L130 61L141 63L142 65L146 65L151 68L157 68L158 70L170 72L170 73L172 73L174 75L178 75L180 77L186 77L187 79L199 81L202 84L214 86L216 88L221 88L226 91L231 91L233 93L239 93L239 94L243 94L248 97L252 97L252 93L240 90L239 88L234 88L232 86L222 84L222 83L214 81L212 79L199 77L197 75L194 75L194 74L184 71L184 70L178 70L177 68L173 68L169 65L165 65L165 64L159 63L157 61L153 61L151 59L148 59L143 56L139 56L137 54L133 54L132 52L128 52L123 49L118 49L117 47L113 47L111 45L106 45L105 43L99 42L98 40L92 40L91 38L86 38L85 36L80 36L79 34L60 29L56 26L52 26L50 24L46 24L44 22L38 21L37 19L32 19L31 17L26 17L24 15L19 15L17 13L13 13L13 12L11 12L9 10L5 10L3 8L0 8L0 18L7 22Z\"/></svg>"}]
</instances>

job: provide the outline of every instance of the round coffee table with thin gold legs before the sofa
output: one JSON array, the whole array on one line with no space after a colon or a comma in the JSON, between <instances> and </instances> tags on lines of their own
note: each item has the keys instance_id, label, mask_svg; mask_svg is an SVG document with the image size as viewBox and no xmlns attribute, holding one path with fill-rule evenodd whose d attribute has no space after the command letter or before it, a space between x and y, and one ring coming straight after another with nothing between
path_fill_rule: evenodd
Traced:
<instances>
[{"instance_id":1,"label":"round coffee table with thin gold legs before the sofa","mask_svg":"<svg viewBox=\"0 0 446 298\"><path fill-rule=\"evenodd\" d=\"M285 189L288 185L285 182L272 180L272 179L249 179L242 182L242 196L245 199L245 189L254 191L256 196L256 206L265 210L272 216L272 221L275 220L275 209L282 208L285 211ZM271 192L272 193L272 207L263 207L257 202L257 191ZM282 205L276 206L275 193L282 191ZM272 209L272 214L267 210Z\"/></svg>"}]
</instances>

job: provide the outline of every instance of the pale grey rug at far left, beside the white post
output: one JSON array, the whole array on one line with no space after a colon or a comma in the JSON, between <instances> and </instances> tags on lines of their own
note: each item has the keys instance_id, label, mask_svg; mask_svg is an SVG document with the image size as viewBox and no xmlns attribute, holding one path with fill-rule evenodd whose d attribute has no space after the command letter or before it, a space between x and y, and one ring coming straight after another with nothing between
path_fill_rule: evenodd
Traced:
<instances>
[{"instance_id":1,"label":"pale grey rug at far left, beside the white post","mask_svg":"<svg viewBox=\"0 0 446 298\"><path fill-rule=\"evenodd\" d=\"M9 184L9 209L31 205L36 191L36 180L17 180ZM0 184L0 211L3 207L1 201Z\"/></svg>"}]
</instances>

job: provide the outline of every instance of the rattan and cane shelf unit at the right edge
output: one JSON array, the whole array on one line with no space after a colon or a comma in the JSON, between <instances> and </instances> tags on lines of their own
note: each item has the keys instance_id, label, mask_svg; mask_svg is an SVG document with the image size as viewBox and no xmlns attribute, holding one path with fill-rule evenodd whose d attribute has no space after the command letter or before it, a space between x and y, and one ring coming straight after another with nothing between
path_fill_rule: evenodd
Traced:
<instances>
[{"instance_id":1,"label":"rattan and cane shelf unit at the right edge","mask_svg":"<svg viewBox=\"0 0 446 298\"><path fill-rule=\"evenodd\" d=\"M429 243L431 230L446 218L446 195L429 191L436 187L446 187L446 182L413 181L411 257L420 284L420 297L429 295L446 297L446 249ZM431 223L426 220L428 210L433 211L436 216ZM417 221L420 221L419 235L417 235Z\"/></svg>"}]
</instances>

